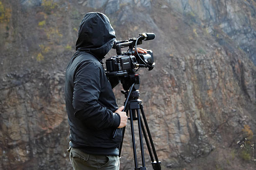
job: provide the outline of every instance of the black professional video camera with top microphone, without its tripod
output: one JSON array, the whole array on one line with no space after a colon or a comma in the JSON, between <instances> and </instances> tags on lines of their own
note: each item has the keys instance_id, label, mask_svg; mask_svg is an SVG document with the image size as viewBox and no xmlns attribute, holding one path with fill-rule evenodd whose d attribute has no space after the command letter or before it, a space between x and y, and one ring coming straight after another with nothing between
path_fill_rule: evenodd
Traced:
<instances>
[{"instance_id":1,"label":"black professional video camera with top microphone, without its tripod","mask_svg":"<svg viewBox=\"0 0 256 170\"><path fill-rule=\"evenodd\" d=\"M141 67L152 70L155 66L153 52L138 53L137 45L142 44L142 40L148 41L155 38L154 33L142 33L138 38L130 38L125 41L114 41L113 48L116 49L117 56L112 56L106 60L106 75L108 77L118 77L122 79L131 74L135 74ZM122 52L121 48L129 47L128 51ZM133 51L133 48L135 50ZM136 53L134 56L133 54ZM121 81L122 83L122 81Z\"/></svg>"}]
</instances>

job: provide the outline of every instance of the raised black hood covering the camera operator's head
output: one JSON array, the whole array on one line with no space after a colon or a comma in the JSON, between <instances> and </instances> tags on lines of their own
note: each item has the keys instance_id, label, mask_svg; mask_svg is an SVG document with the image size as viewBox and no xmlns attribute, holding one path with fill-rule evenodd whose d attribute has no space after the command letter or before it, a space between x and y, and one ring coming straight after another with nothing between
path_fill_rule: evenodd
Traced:
<instances>
[{"instance_id":1,"label":"raised black hood covering the camera operator's head","mask_svg":"<svg viewBox=\"0 0 256 170\"><path fill-rule=\"evenodd\" d=\"M79 25L76 50L88 51L102 59L110 51L115 31L102 13L87 13Z\"/></svg>"}]
</instances>

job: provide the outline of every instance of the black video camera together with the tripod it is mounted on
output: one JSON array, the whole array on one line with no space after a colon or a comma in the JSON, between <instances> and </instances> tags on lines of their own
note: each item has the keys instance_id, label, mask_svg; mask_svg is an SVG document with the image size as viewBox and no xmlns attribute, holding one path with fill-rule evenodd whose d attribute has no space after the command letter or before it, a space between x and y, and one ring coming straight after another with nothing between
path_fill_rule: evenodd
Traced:
<instances>
[{"instance_id":1,"label":"black video camera together with the tripod it is mounted on","mask_svg":"<svg viewBox=\"0 0 256 170\"><path fill-rule=\"evenodd\" d=\"M155 66L154 63L154 57L153 52L151 50L148 50L147 53L138 53L137 51L137 44L142 44L142 40L153 40L155 38L154 33L142 33L139 34L138 38L130 38L129 40L125 41L114 41L113 48L116 49L117 56L112 56L109 59L106 60L106 75L108 76L108 79L111 84L111 79L117 80L119 83L119 80L123 84L123 90L121 90L122 94L125 95L125 102L124 102L124 109L123 112L126 112L126 115L130 113L130 119L131 122L131 137L132 137L132 143L133 143L133 157L134 157L134 165L135 170L146 170L145 165L145 158L144 158L144 151L143 151L143 141L142 141L142 132L144 135L144 139L146 142L146 145L148 147L148 153L150 155L151 164L154 170L161 170L161 161L158 160L158 157L156 155L156 149L153 144L153 140L151 137L151 134L149 132L148 123L146 121L146 117L143 111L143 105L142 101L139 98L139 85L140 85L140 75L136 74L136 71L138 71L139 68L145 67L148 68L148 70L152 70ZM128 51L122 52L121 48L129 47ZM135 47L135 50L133 48ZM112 85L112 88L114 85ZM140 114L141 112L141 114ZM137 113L137 114L136 114ZM141 118L142 115L142 118ZM143 121L145 123L145 127L143 126ZM141 146L141 160L142 160L142 166L138 167L137 163L137 155L136 155L136 146L135 146L135 137L134 137L134 127L133 127L133 121L138 120L138 130L139 130L139 138L140 138L140 146ZM113 132L113 139L118 134L118 128L114 130ZM120 143L118 149L119 154L118 157L120 159L121 150L123 146L123 139L124 139L124 133L125 133L125 127L122 128L122 142ZM146 136L148 135L148 137ZM156 160L154 160L154 157L152 155L149 141L154 153L154 157Z\"/></svg>"}]
</instances>

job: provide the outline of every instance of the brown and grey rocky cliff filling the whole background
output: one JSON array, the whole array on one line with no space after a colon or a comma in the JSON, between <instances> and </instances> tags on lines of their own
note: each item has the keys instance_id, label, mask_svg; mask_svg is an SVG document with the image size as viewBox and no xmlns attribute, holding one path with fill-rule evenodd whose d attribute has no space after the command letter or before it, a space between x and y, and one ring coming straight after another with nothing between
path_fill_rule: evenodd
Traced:
<instances>
[{"instance_id":1,"label":"brown and grey rocky cliff filling the whole background","mask_svg":"<svg viewBox=\"0 0 256 170\"><path fill-rule=\"evenodd\" d=\"M236 144L256 141L255 8L253 0L0 0L0 169L72 169L64 71L91 11L110 18L118 40L156 34L141 45L156 67L139 71L140 99L162 169L255 169ZM133 168L127 126L124 170Z\"/></svg>"}]
</instances>

